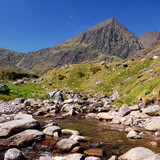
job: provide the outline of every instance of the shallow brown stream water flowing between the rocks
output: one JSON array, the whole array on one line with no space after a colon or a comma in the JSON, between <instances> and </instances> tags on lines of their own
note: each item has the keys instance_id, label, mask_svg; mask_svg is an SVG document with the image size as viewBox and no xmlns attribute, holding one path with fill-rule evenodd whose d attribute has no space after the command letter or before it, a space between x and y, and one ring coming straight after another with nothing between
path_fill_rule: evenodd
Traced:
<instances>
[{"instance_id":1,"label":"shallow brown stream water flowing between the rocks","mask_svg":"<svg viewBox=\"0 0 160 160\"><path fill-rule=\"evenodd\" d=\"M106 155L101 157L103 160L107 160L112 155L120 156L126 151L134 147L146 147L150 148L152 151L160 153L159 139L156 139L154 133L146 133L141 128L136 128L140 132L144 132L141 139L133 140L126 137L127 133L122 132L126 126L123 125L111 125L106 121L98 121L92 119L83 119L78 117L70 117L66 119L54 119L54 118L38 118L38 121L43 126L46 122L57 122L61 128L74 129L81 133L89 140L89 144L92 145L91 148L96 148L94 145L101 142L104 144L100 148L106 151ZM117 131L119 130L119 131ZM60 137L64 138L64 137ZM59 139L60 139L59 138ZM152 147L149 145L151 141L157 142L157 147ZM52 155L53 151L42 151L34 149L33 147L28 147L22 149L24 154L29 159L38 159L42 155Z\"/></svg>"}]
</instances>

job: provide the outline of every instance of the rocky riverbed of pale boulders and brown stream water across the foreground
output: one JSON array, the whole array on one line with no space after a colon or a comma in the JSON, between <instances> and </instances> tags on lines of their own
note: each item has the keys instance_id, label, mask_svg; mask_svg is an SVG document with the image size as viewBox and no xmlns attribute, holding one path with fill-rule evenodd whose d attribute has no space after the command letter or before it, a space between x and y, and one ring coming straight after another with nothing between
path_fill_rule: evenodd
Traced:
<instances>
[{"instance_id":1,"label":"rocky riverbed of pale boulders and brown stream water across the foreground","mask_svg":"<svg viewBox=\"0 0 160 160\"><path fill-rule=\"evenodd\" d=\"M116 92L110 98L59 90L49 95L44 101L0 102L1 159L160 159L159 104L118 109L112 105ZM123 138L112 138L109 145L106 132ZM123 147L125 141L135 142L133 148Z\"/></svg>"}]
</instances>

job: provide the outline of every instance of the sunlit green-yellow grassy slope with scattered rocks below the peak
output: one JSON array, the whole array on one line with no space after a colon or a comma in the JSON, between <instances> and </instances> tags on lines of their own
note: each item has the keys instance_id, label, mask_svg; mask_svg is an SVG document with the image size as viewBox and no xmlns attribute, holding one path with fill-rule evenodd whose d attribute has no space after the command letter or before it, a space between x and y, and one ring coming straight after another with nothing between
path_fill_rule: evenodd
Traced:
<instances>
[{"instance_id":1,"label":"sunlit green-yellow grassy slope with scattered rocks below the peak","mask_svg":"<svg viewBox=\"0 0 160 160\"><path fill-rule=\"evenodd\" d=\"M123 64L128 66L124 67ZM110 96L117 90L121 96L116 105L136 104L140 99L150 101L160 99L160 58L145 61L113 62L105 65L100 63L78 64L51 70L42 77L42 82L52 90L60 88L76 90L97 96ZM100 85L96 82L100 81ZM49 82L53 82L51 86Z\"/></svg>"}]
</instances>

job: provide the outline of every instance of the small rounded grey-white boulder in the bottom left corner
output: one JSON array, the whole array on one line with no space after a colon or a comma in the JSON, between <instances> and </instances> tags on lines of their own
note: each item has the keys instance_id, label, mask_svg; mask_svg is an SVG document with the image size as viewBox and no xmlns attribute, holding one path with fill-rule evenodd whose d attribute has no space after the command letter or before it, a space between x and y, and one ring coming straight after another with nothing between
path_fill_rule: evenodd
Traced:
<instances>
[{"instance_id":1,"label":"small rounded grey-white boulder in the bottom left corner","mask_svg":"<svg viewBox=\"0 0 160 160\"><path fill-rule=\"evenodd\" d=\"M12 148L5 153L4 160L25 160L25 156L17 148Z\"/></svg>"}]
</instances>

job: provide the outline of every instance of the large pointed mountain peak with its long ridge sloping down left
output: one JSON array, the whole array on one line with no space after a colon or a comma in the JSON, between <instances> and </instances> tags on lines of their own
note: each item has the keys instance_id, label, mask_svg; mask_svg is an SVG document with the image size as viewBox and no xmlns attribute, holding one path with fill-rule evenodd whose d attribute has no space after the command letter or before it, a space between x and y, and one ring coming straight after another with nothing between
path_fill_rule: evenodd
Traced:
<instances>
[{"instance_id":1,"label":"large pointed mountain peak with its long ridge sloping down left","mask_svg":"<svg viewBox=\"0 0 160 160\"><path fill-rule=\"evenodd\" d=\"M143 48L137 36L110 18L60 45L26 54L16 67L42 74L70 63L125 59Z\"/></svg>"}]
</instances>

